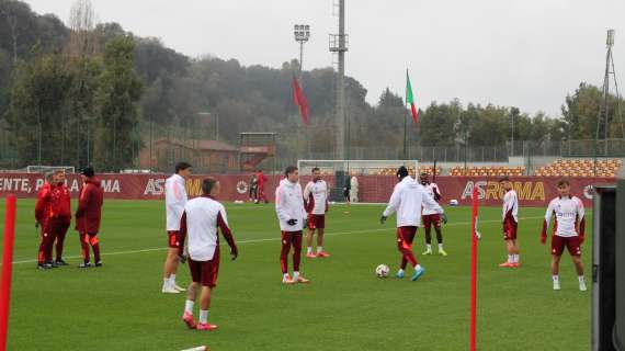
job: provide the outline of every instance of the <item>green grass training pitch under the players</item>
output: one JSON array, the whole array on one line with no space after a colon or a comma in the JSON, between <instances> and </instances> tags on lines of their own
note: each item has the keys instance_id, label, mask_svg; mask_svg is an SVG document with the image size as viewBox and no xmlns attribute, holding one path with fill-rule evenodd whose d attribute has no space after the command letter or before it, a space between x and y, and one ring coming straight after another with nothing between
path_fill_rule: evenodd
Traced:
<instances>
[{"instance_id":1,"label":"green grass training pitch under the players","mask_svg":"<svg viewBox=\"0 0 625 351\"><path fill-rule=\"evenodd\" d=\"M160 293L167 242L161 202L107 201L100 235L104 267L89 270L76 268L80 259L73 230L66 241L71 265L35 269L33 206L31 200L19 201L10 350L181 350L200 344L228 351L468 348L466 207L447 208L446 258L422 257L419 230L414 251L428 272L411 282L374 274L379 263L391 272L397 269L395 217L380 226L382 205L352 206L351 215L333 206L325 246L332 257L303 258L302 271L312 283L283 286L273 205L227 205L240 257L235 262L223 257L209 318L219 329L198 332L180 320L185 295ZM0 207L3 218L3 202ZM562 290L552 291L548 249L538 240L543 211L521 208L523 267L510 270L498 268L505 257L500 208L480 208L479 350L589 349L590 292L578 291L568 256L560 272ZM590 244L582 249L588 268ZM180 285L189 283L186 265L178 276Z\"/></svg>"}]
</instances>

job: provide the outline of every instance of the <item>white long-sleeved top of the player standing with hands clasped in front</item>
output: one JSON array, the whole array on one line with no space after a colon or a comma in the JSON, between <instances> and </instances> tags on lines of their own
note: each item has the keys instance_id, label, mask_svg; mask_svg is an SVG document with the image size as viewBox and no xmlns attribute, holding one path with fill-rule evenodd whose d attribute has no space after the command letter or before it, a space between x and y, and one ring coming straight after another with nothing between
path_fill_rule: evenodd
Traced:
<instances>
[{"instance_id":1,"label":"white long-sleeved top of the player standing with hands clasped in front","mask_svg":"<svg viewBox=\"0 0 625 351\"><path fill-rule=\"evenodd\" d=\"M275 213L282 231L300 231L304 228L304 196L302 185L283 179L275 190ZM288 225L289 219L297 219L295 225Z\"/></svg>"}]
</instances>

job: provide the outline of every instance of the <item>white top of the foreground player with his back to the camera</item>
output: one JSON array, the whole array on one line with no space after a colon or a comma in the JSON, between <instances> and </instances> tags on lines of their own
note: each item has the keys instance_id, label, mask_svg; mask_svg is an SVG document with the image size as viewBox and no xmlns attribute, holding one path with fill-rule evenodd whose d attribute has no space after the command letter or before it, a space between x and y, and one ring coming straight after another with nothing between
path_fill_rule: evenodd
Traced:
<instances>
[{"instance_id":1,"label":"white top of the foreground player with his back to the camera","mask_svg":"<svg viewBox=\"0 0 625 351\"><path fill-rule=\"evenodd\" d=\"M184 206L189 257L194 261L211 261L215 256L217 228L231 237L226 208L211 197L195 197Z\"/></svg>"}]
</instances>

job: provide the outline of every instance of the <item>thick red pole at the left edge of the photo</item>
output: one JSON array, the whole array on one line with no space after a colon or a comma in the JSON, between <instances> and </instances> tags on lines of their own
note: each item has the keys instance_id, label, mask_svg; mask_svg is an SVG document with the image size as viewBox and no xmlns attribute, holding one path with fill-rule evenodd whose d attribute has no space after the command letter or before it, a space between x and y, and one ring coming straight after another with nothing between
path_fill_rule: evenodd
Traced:
<instances>
[{"instance_id":1,"label":"thick red pole at the left edge of the photo","mask_svg":"<svg viewBox=\"0 0 625 351\"><path fill-rule=\"evenodd\" d=\"M0 351L7 350L9 329L9 301L11 299L11 273L13 269L13 241L15 238L15 195L7 196L4 208L4 246L2 246L2 278L0 285Z\"/></svg>"}]
</instances>

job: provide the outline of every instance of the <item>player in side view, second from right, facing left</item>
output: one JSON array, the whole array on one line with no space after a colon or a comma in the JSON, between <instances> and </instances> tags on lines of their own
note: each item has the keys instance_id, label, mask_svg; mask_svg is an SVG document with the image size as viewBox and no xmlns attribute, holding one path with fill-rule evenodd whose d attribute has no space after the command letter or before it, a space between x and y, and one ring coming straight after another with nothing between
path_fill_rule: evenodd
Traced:
<instances>
[{"instance_id":1,"label":"player in side view, second from right, facing left","mask_svg":"<svg viewBox=\"0 0 625 351\"><path fill-rule=\"evenodd\" d=\"M510 178L503 177L499 180L499 184L505 190L503 195L503 240L505 240L505 249L508 251L508 261L499 264L504 268L519 268L519 244L516 242L516 229L519 226L519 196L512 189Z\"/></svg>"}]
</instances>

